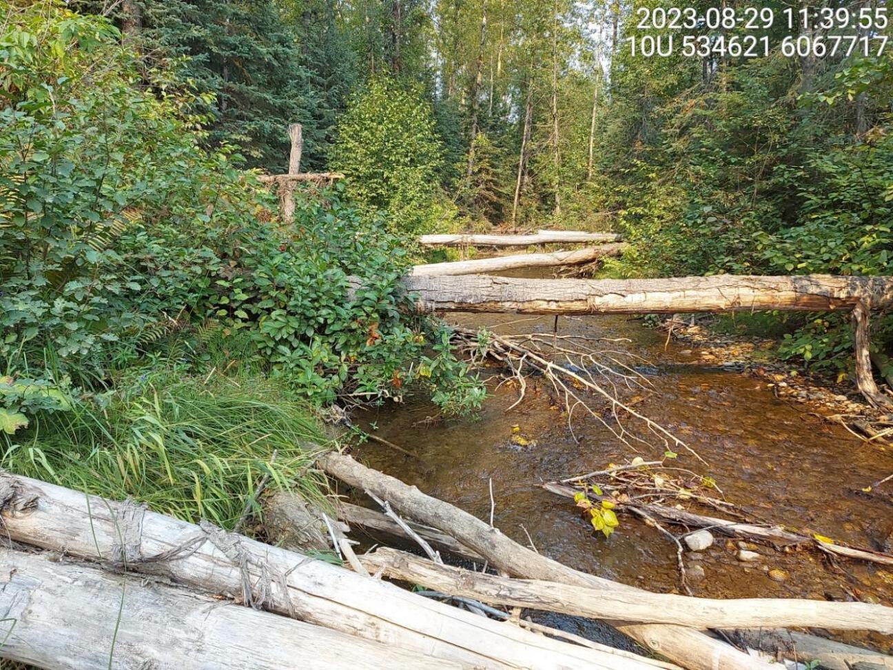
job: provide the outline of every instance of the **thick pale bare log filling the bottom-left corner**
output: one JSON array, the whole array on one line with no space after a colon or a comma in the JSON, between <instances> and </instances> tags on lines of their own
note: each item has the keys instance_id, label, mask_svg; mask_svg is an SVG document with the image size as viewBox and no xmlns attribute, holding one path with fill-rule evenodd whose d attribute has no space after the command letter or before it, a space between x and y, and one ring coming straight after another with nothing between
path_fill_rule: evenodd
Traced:
<instances>
[{"instance_id":1,"label":"thick pale bare log filling the bottom-left corner","mask_svg":"<svg viewBox=\"0 0 893 670\"><path fill-rule=\"evenodd\" d=\"M68 557L0 566L0 657L48 670L465 667Z\"/></svg>"}]
</instances>

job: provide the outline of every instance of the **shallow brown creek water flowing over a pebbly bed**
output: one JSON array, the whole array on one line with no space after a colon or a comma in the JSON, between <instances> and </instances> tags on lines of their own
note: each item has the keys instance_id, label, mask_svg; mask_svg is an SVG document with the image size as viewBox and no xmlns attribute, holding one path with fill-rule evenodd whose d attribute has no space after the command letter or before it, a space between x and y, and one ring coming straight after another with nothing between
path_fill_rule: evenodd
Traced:
<instances>
[{"instance_id":1,"label":"shallow brown creek water flowing over a pebbly bed","mask_svg":"<svg viewBox=\"0 0 893 670\"><path fill-rule=\"evenodd\" d=\"M449 320L465 327L487 326L498 334L551 333L554 317L453 314ZM893 449L866 444L804 406L775 398L765 381L698 363L689 345L667 342L662 331L640 320L563 316L558 328L563 334L629 339L605 346L647 359L647 364L638 362L638 370L653 389L630 391L624 398L643 397L636 410L672 430L708 464L677 449L672 465L713 477L726 498L755 519L856 546L893 549L893 506L860 493L893 472ZM499 371L488 369L482 376L489 372ZM360 458L481 519L490 515L492 479L494 523L514 540L532 543L540 553L586 572L649 590L677 590L675 545L655 529L621 515L618 531L606 540L578 514L572 500L538 488L539 482L626 463L635 456L659 460L663 444L652 439L653 448L636 444L634 451L581 412L574 416L575 442L562 403L555 403L550 393L551 384L530 379L526 398L506 413L518 391L505 385L496 389L497 383L497 377L488 382L491 395L477 420L431 424L426 417L435 414L434 408L412 401L360 413L356 419L364 428L420 456L416 460L368 443ZM514 425L536 444L514 445ZM645 434L642 426L636 428ZM695 595L856 598L893 605L891 569L848 560L835 567L813 549L785 553L764 545L757 549L759 561L744 564L735 556L737 549L717 536L701 552L705 579L689 582ZM694 563L687 557L686 565ZM769 578L768 570L776 568L789 574L785 581ZM893 640L880 634L840 639L893 648Z\"/></svg>"}]
</instances>

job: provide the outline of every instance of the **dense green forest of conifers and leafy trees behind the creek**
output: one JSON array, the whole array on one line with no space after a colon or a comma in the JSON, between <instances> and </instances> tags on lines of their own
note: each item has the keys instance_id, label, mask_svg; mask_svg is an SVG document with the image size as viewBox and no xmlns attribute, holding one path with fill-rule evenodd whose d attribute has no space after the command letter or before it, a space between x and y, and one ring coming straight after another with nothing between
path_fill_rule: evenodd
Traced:
<instances>
[{"instance_id":1,"label":"dense green forest of conifers and leafy trees behind the creek","mask_svg":"<svg viewBox=\"0 0 893 670\"><path fill-rule=\"evenodd\" d=\"M822 3L838 5L877 2ZM625 40L641 6L663 4L71 3L113 17L147 67L210 94L196 110L207 143L280 171L283 129L300 121L306 169L346 172L393 230L613 227L634 245L613 268L628 276L886 272L889 51L787 57L779 19L768 57L645 58ZM794 325L786 355L848 350L834 319Z\"/></svg>"}]
</instances>

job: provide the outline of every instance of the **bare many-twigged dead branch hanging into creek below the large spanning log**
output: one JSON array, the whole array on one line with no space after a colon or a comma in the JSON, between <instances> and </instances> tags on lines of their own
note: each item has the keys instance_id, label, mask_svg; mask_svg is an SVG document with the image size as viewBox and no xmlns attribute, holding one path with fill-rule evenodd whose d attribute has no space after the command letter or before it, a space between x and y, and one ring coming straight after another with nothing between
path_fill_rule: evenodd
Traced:
<instances>
[{"instance_id":1,"label":"bare many-twigged dead branch hanging into creek below the large spanning log","mask_svg":"<svg viewBox=\"0 0 893 670\"><path fill-rule=\"evenodd\" d=\"M509 409L517 406L524 398L527 389L526 374L538 373L547 379L558 396L563 398L568 428L575 441L579 440L576 440L573 434L572 417L574 411L581 407L630 448L633 446L631 442L650 447L651 444L647 440L638 437L625 427L622 414L626 414L633 420L644 423L648 431L663 440L663 448L683 448L705 463L686 442L677 438L661 424L639 414L632 408L631 402L623 402L619 398L621 386L627 390L647 390L651 386L651 382L643 374L638 373L630 364L622 362L622 356L631 355L609 348L587 348L585 344L593 340L579 335L559 336L545 333L496 335L492 332L479 335L478 332L461 328L456 329L455 333L462 340L464 348L472 352L472 359L474 356L490 356L509 368L510 376L518 381L521 388L520 397ZM580 344L580 340L584 344ZM606 400L613 423L606 421L590 402L581 398L581 391Z\"/></svg>"}]
</instances>

